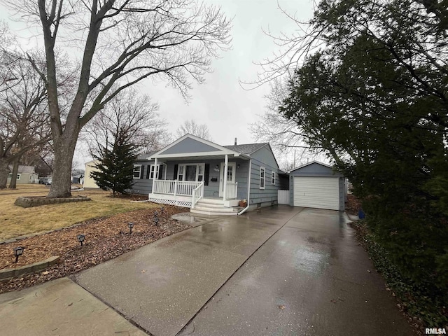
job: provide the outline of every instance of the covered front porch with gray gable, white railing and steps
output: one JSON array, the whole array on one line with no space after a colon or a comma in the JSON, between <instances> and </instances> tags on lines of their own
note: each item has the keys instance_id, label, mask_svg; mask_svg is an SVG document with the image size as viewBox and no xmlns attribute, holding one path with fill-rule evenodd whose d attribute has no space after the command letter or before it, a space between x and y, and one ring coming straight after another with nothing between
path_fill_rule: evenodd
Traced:
<instances>
[{"instance_id":1,"label":"covered front porch with gray gable, white railing and steps","mask_svg":"<svg viewBox=\"0 0 448 336\"><path fill-rule=\"evenodd\" d=\"M148 158L153 161L148 198L191 209L237 207L246 199L249 159L187 134Z\"/></svg>"}]
</instances>

